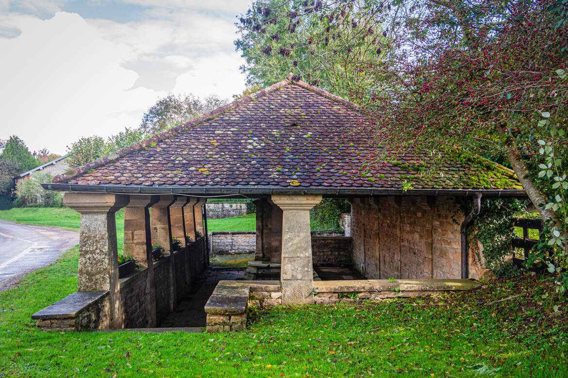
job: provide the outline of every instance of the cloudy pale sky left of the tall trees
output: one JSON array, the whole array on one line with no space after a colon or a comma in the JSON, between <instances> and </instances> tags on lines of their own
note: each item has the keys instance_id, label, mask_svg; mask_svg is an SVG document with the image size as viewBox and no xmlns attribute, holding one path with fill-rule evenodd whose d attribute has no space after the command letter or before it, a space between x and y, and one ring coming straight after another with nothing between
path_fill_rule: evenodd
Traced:
<instances>
[{"instance_id":1,"label":"cloudy pale sky left of the tall trees","mask_svg":"<svg viewBox=\"0 0 568 378\"><path fill-rule=\"evenodd\" d=\"M169 93L245 88L236 16L250 0L0 0L0 139L65 154L136 128Z\"/></svg>"}]
</instances>

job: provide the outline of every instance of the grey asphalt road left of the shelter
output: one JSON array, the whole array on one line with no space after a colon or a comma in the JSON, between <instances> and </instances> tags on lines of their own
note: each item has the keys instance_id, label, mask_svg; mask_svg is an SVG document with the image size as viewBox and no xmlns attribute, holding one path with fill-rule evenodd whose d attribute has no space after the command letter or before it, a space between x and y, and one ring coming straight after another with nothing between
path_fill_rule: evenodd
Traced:
<instances>
[{"instance_id":1,"label":"grey asphalt road left of the shelter","mask_svg":"<svg viewBox=\"0 0 568 378\"><path fill-rule=\"evenodd\" d=\"M0 291L9 288L24 274L55 261L78 243L77 231L0 219Z\"/></svg>"}]
</instances>

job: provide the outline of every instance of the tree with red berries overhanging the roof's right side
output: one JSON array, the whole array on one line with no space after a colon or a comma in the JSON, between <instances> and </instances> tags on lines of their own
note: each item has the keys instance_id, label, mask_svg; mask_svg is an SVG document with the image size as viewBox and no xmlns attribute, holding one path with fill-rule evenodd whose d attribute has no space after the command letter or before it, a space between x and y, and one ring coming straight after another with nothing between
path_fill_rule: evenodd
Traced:
<instances>
[{"instance_id":1,"label":"tree with red berries overhanging the roof's right side","mask_svg":"<svg viewBox=\"0 0 568 378\"><path fill-rule=\"evenodd\" d=\"M506 159L548 224L548 244L557 248L556 268L568 267L568 3L316 3L294 2L291 10L278 6L278 24L286 25L279 35L287 35L307 15L329 20L328 26L310 32L319 43L344 27L349 17L360 28L365 19L361 14L373 14L384 29L385 39L377 41L382 61L361 66L376 79L349 93L373 120L360 128L391 147L378 148L366 163L384 164L391 154L416 148L437 156L473 151ZM260 29L270 24L258 14L245 22ZM358 59L345 54L334 58L346 65Z\"/></svg>"}]
</instances>

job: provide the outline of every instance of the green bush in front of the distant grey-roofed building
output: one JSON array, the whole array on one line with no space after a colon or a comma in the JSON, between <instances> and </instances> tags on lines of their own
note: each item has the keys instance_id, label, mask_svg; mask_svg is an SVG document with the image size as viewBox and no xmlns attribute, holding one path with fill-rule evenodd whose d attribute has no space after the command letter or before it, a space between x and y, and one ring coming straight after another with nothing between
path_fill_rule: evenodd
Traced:
<instances>
[{"instance_id":1,"label":"green bush in front of the distant grey-roofed building","mask_svg":"<svg viewBox=\"0 0 568 378\"><path fill-rule=\"evenodd\" d=\"M41 171L34 172L27 179L23 180L16 188L18 196L18 207L60 207L63 206L63 194L45 190L42 182L52 182L53 176Z\"/></svg>"}]
</instances>

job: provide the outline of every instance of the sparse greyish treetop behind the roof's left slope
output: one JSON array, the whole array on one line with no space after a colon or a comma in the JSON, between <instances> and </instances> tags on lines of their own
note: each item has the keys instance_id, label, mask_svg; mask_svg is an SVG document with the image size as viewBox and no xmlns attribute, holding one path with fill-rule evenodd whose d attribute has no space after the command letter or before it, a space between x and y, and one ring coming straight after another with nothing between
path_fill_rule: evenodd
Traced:
<instances>
[{"instance_id":1,"label":"sparse greyish treetop behind the roof's left slope","mask_svg":"<svg viewBox=\"0 0 568 378\"><path fill-rule=\"evenodd\" d=\"M145 134L161 133L227 103L227 100L215 95L201 99L192 94L185 96L169 94L148 109L142 118L140 130Z\"/></svg>"}]
</instances>

